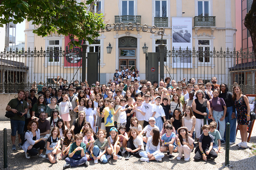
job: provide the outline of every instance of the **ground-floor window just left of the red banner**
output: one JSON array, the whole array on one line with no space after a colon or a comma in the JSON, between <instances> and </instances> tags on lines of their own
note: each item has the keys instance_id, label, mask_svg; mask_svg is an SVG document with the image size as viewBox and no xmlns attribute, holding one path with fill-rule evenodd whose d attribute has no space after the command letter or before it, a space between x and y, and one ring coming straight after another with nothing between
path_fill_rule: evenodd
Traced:
<instances>
[{"instance_id":1,"label":"ground-floor window just left of the red banner","mask_svg":"<svg viewBox=\"0 0 256 170\"><path fill-rule=\"evenodd\" d=\"M48 62L59 62L60 40L48 40Z\"/></svg>"}]
</instances>

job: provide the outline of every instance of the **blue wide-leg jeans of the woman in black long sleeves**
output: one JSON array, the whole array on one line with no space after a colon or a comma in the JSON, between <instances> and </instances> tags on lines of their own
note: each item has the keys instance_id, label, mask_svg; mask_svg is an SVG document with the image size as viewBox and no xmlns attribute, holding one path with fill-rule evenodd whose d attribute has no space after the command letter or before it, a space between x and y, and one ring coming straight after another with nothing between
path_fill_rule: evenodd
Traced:
<instances>
[{"instance_id":1,"label":"blue wide-leg jeans of the woman in black long sleeves","mask_svg":"<svg viewBox=\"0 0 256 170\"><path fill-rule=\"evenodd\" d=\"M227 116L225 117L226 123L230 123L230 142L236 142L236 118L232 119L231 115L233 112L233 107L227 108ZM224 133L224 141L226 141L226 128Z\"/></svg>"}]
</instances>

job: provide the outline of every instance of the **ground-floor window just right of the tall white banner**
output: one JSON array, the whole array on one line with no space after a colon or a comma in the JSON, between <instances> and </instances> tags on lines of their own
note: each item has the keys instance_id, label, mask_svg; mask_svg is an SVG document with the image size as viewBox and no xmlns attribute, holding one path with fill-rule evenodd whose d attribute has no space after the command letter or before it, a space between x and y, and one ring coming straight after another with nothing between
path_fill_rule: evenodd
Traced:
<instances>
[{"instance_id":1,"label":"ground-floor window just right of the tall white banner","mask_svg":"<svg viewBox=\"0 0 256 170\"><path fill-rule=\"evenodd\" d=\"M198 40L198 62L210 62L210 40Z\"/></svg>"}]
</instances>

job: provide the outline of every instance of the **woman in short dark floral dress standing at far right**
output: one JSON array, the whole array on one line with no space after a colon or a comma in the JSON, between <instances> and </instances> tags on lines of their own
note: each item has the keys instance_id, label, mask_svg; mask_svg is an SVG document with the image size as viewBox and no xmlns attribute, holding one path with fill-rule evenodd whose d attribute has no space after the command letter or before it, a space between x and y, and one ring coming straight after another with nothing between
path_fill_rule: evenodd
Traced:
<instances>
[{"instance_id":1,"label":"woman in short dark floral dress standing at far right","mask_svg":"<svg viewBox=\"0 0 256 170\"><path fill-rule=\"evenodd\" d=\"M233 100L237 111L237 124L241 134L242 142L238 144L239 150L247 148L247 126L250 121L250 105L247 96L242 94L238 85L233 87Z\"/></svg>"}]
</instances>

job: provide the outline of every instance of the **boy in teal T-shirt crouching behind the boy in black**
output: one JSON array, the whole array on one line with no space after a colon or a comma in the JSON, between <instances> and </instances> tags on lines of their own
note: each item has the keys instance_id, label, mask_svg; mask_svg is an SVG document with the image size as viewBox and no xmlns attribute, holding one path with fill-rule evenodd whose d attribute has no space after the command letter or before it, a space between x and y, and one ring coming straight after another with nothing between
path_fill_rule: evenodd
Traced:
<instances>
[{"instance_id":1,"label":"boy in teal T-shirt crouching behind the boy in black","mask_svg":"<svg viewBox=\"0 0 256 170\"><path fill-rule=\"evenodd\" d=\"M217 123L216 122L211 122L210 123L210 131L209 134L213 136L214 142L212 144L212 149L218 154L222 153L221 151L221 134L219 133L218 130L216 130Z\"/></svg>"}]
</instances>

